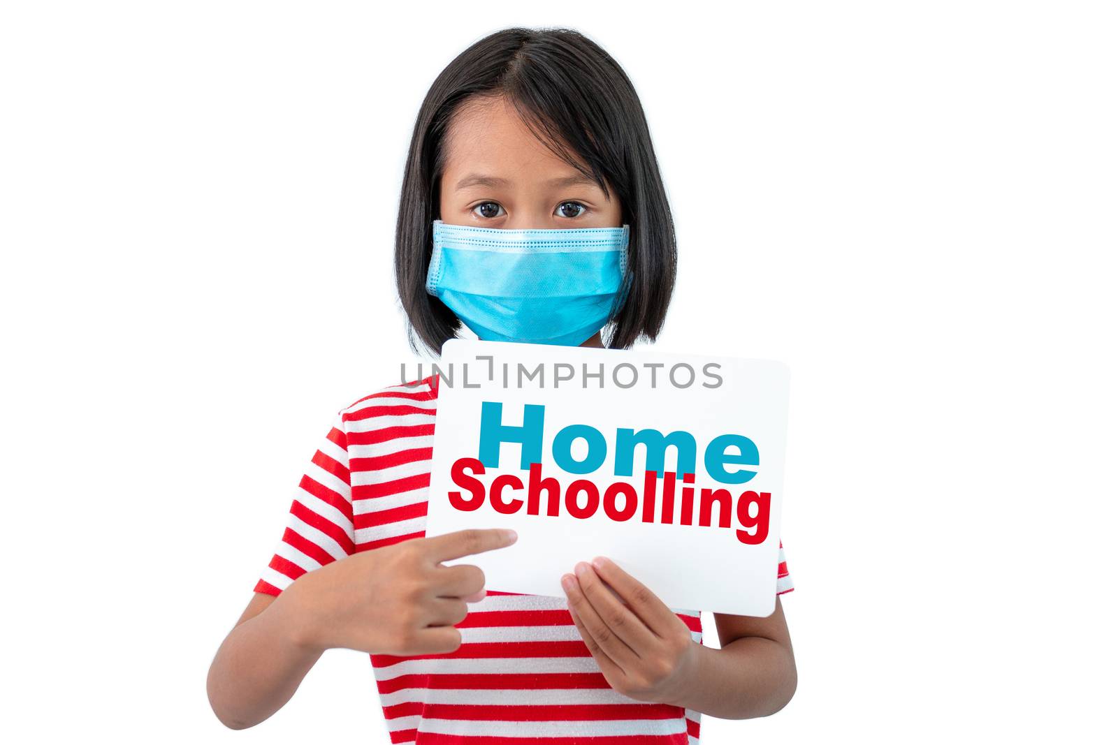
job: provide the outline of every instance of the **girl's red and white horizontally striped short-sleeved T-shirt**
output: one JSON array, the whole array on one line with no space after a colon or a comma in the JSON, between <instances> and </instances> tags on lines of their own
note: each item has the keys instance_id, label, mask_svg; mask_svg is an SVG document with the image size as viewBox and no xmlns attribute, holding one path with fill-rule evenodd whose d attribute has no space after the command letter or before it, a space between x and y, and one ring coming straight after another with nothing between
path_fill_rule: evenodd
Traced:
<instances>
[{"instance_id":1,"label":"girl's red and white horizontally striped short-sleeved T-shirt","mask_svg":"<svg viewBox=\"0 0 1118 745\"><path fill-rule=\"evenodd\" d=\"M303 475L256 592L358 551L423 537L436 375L338 412ZM780 547L777 593L792 590ZM672 609L702 642L698 610ZM417 745L697 745L701 713L610 688L563 598L487 590L446 655L370 655L392 743Z\"/></svg>"}]
</instances>

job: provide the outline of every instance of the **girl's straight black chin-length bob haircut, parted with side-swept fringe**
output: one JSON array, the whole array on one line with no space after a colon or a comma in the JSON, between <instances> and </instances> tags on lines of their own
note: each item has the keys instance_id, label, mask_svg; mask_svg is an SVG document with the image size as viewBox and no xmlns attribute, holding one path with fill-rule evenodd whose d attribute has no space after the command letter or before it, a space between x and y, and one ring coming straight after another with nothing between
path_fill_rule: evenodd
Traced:
<instances>
[{"instance_id":1,"label":"girl's straight black chin-length bob haircut, parted with side-swept fringe","mask_svg":"<svg viewBox=\"0 0 1118 745\"><path fill-rule=\"evenodd\" d=\"M439 73L411 134L396 222L396 286L416 337L436 355L462 327L426 292L432 223L445 168L443 137L471 97L504 97L551 152L620 200L629 225L625 303L606 326L609 348L654 340L675 284L675 229L644 109L620 66L597 44L567 28L508 28L473 44ZM588 172L589 171L589 172ZM612 333L610 333L612 331Z\"/></svg>"}]
</instances>

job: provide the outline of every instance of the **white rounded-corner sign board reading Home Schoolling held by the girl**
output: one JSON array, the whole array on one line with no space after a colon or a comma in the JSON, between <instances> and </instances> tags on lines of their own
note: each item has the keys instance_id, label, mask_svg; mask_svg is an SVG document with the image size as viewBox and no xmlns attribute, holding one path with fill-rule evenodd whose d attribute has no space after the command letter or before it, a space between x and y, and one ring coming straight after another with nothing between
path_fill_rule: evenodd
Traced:
<instances>
[{"instance_id":1,"label":"white rounded-corner sign board reading Home Schoolling held by the girl","mask_svg":"<svg viewBox=\"0 0 1118 745\"><path fill-rule=\"evenodd\" d=\"M773 612L783 363L451 340L438 371L427 535L519 534L445 564L565 598L559 577L603 555L669 608Z\"/></svg>"}]
</instances>

